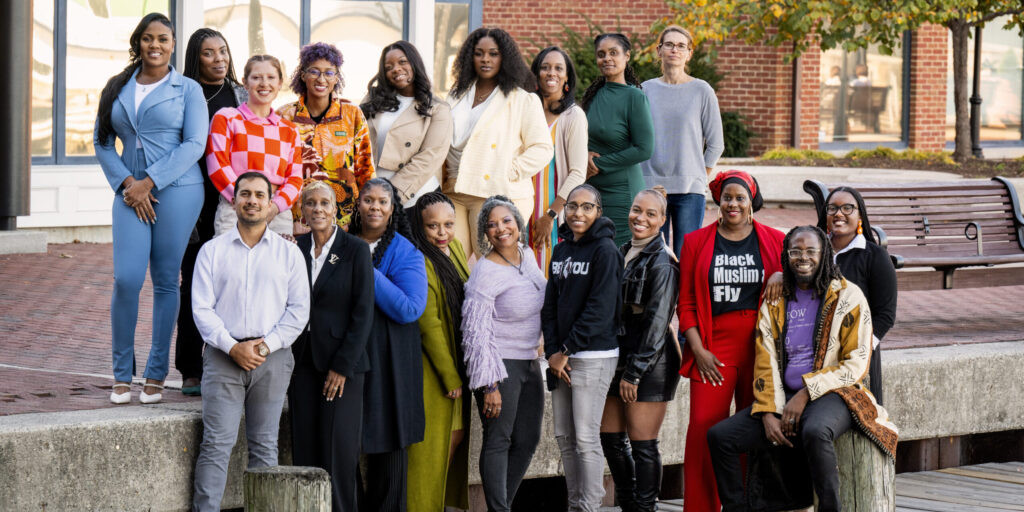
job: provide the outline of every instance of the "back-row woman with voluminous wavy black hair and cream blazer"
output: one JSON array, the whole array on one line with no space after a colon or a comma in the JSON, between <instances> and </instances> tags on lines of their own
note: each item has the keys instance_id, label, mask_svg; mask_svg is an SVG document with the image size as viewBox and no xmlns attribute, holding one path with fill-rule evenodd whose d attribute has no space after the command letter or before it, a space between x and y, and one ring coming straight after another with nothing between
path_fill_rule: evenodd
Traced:
<instances>
[{"instance_id":1,"label":"back-row woman with voluminous wavy black hair and cream blazer","mask_svg":"<svg viewBox=\"0 0 1024 512\"><path fill-rule=\"evenodd\" d=\"M532 211L530 178L551 161L554 146L541 100L526 92L535 88L534 75L508 33L473 31L454 68L442 189L455 203L456 238L479 256L476 217L484 200L502 195L519 211Z\"/></svg>"}]
</instances>

